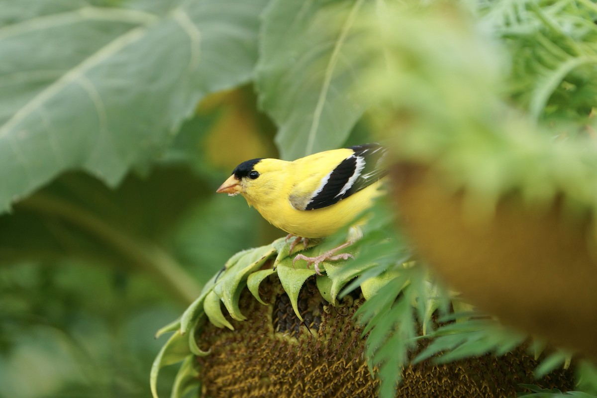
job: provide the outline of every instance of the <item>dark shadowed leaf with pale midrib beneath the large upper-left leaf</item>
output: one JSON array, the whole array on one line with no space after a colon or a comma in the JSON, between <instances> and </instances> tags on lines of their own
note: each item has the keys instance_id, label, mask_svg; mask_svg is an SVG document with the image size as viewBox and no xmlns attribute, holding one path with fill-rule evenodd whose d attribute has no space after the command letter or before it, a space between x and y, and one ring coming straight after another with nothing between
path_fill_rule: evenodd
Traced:
<instances>
[{"instance_id":1,"label":"dark shadowed leaf with pale midrib beneath the large upper-left leaf","mask_svg":"<svg viewBox=\"0 0 597 398\"><path fill-rule=\"evenodd\" d=\"M80 259L119 272L142 271L186 305L211 272L187 272L190 261L177 261L168 241L203 195L198 179L180 167L145 178L128 175L116 190L82 172L66 173L0 216L0 266ZM152 200L139 200L148 196Z\"/></svg>"}]
</instances>

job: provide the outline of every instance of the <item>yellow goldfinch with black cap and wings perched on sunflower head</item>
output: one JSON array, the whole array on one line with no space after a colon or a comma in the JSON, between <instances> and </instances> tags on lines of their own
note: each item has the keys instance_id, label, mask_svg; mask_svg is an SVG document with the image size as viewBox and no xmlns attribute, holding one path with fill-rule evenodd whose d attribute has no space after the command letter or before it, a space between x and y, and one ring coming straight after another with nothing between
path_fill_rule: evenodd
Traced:
<instances>
[{"instance_id":1,"label":"yellow goldfinch with black cap and wings perched on sunflower head","mask_svg":"<svg viewBox=\"0 0 597 398\"><path fill-rule=\"evenodd\" d=\"M301 238L332 235L371 205L386 174L381 161L386 149L364 144L315 153L293 162L251 159L242 162L217 189L244 196L273 226ZM289 236L291 236L289 235ZM352 242L318 257L298 255L307 266L324 260L352 257L333 255Z\"/></svg>"}]
</instances>

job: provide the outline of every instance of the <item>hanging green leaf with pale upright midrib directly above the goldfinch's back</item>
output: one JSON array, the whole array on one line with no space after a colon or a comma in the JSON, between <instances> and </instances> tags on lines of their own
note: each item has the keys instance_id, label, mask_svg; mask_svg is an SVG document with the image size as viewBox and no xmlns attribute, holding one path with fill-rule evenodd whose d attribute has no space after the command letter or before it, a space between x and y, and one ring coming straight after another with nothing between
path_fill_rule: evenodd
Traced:
<instances>
[{"instance_id":1,"label":"hanging green leaf with pale upright midrib directly above the goldfinch's back","mask_svg":"<svg viewBox=\"0 0 597 398\"><path fill-rule=\"evenodd\" d=\"M334 149L361 117L352 91L364 51L355 20L364 1L274 0L263 15L257 90L279 125L284 159Z\"/></svg>"}]
</instances>

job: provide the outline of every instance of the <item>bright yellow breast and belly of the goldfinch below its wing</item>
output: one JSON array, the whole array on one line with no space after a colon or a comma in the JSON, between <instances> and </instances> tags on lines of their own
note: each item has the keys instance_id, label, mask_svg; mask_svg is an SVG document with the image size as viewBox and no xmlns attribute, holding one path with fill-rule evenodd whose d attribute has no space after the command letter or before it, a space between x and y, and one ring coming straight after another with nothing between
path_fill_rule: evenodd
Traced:
<instances>
[{"instance_id":1,"label":"bright yellow breast and belly of the goldfinch below its wing","mask_svg":"<svg viewBox=\"0 0 597 398\"><path fill-rule=\"evenodd\" d=\"M373 198L379 195L379 188L380 181L377 181L334 205L315 210L297 210L288 199L250 204L269 223L285 232L301 237L319 238L332 235L369 208Z\"/></svg>"}]
</instances>

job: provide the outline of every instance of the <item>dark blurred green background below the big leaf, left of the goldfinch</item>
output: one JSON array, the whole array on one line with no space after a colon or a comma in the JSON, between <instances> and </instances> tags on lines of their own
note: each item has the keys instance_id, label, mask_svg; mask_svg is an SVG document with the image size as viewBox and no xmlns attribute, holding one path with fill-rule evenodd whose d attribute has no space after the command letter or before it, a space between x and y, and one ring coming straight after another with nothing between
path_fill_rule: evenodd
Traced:
<instances>
[{"instance_id":1,"label":"dark blurred green background below the big leaf, left of the goldfinch","mask_svg":"<svg viewBox=\"0 0 597 398\"><path fill-rule=\"evenodd\" d=\"M149 396L155 332L232 254L283 234L215 194L237 163L276 156L254 101L205 101L117 187L64 172L0 217L0 396Z\"/></svg>"}]
</instances>

